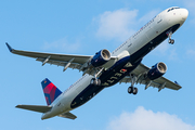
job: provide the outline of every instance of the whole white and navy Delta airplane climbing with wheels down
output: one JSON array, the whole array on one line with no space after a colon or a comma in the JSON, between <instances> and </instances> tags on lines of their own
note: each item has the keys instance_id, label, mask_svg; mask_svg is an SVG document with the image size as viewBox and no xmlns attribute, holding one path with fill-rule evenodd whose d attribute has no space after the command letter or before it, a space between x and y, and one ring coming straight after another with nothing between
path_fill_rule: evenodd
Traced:
<instances>
[{"instance_id":1,"label":"whole white and navy Delta airplane climbing with wheels down","mask_svg":"<svg viewBox=\"0 0 195 130\"><path fill-rule=\"evenodd\" d=\"M136 94L135 83L158 89L165 88L179 90L182 87L177 81L170 81L162 77L167 72L167 65L159 62L151 68L142 64L143 57L168 38L170 44L174 43L171 38L186 21L188 11L186 9L169 8L131 36L112 53L107 49L96 52L94 55L72 55L30 52L13 49L5 43L13 54L34 57L44 64L63 66L78 69L83 75L66 91L58 90L49 79L42 80L42 89L48 105L17 105L17 108L42 113L41 119L55 116L76 119L77 116L70 110L83 105L103 89L116 83L131 83L128 93Z\"/></svg>"}]
</instances>

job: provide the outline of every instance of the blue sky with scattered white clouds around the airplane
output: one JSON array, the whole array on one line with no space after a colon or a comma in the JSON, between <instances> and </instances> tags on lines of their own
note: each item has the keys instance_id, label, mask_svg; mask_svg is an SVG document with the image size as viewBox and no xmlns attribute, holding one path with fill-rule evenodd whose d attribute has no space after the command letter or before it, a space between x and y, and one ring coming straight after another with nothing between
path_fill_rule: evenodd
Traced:
<instances>
[{"instance_id":1,"label":"blue sky with scattered white clouds around the airplane","mask_svg":"<svg viewBox=\"0 0 195 130\"><path fill-rule=\"evenodd\" d=\"M34 58L11 54L14 49L62 54L94 55L110 52L170 6L188 10L183 26L173 34L171 46L164 41L142 61L148 67L168 66L165 77L182 89L173 91L117 83L74 109L78 118L54 117L15 108L17 104L47 105L40 82L49 78L61 91L81 73L54 65L41 66ZM0 122L2 130L195 130L195 1L194 0L66 0L0 2Z\"/></svg>"}]
</instances>

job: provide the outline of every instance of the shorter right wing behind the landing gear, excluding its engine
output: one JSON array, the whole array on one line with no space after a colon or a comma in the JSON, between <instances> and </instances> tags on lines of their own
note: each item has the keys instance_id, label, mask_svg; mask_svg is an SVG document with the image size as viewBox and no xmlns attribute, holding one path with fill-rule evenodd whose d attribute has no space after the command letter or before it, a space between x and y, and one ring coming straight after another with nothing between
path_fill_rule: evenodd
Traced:
<instances>
[{"instance_id":1,"label":"shorter right wing behind the landing gear, excluding its engine","mask_svg":"<svg viewBox=\"0 0 195 130\"><path fill-rule=\"evenodd\" d=\"M165 77L157 78L155 80L144 80L140 78L143 74L148 72L150 68L143 64L140 64L131 74L135 75L138 77L136 83L145 84L145 89L148 87L158 88L158 91L160 91L164 88L172 89L172 90L179 90L182 87L176 81L172 82L169 79ZM120 80L120 82L131 82L131 77L126 76L123 79Z\"/></svg>"}]
</instances>

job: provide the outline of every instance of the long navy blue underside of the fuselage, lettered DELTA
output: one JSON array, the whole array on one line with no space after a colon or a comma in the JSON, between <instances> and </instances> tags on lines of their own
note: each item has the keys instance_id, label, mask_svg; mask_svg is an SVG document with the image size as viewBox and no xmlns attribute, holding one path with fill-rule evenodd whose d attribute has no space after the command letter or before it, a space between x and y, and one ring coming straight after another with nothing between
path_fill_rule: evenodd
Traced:
<instances>
[{"instance_id":1,"label":"long navy blue underside of the fuselage, lettered DELTA","mask_svg":"<svg viewBox=\"0 0 195 130\"><path fill-rule=\"evenodd\" d=\"M74 99L74 101L70 104L70 107L76 108L84 104L94 95L96 95L100 91L102 91L104 88L110 87L120 81L125 76L129 75L141 63L143 56L145 56L148 52L151 52L154 48L156 48L159 43L161 43L165 39L168 38L168 30L172 29L172 32L174 32L179 27L180 25L177 24L168 28L133 54L119 60L117 63L115 63L115 65L113 65L110 68L108 68L101 75L100 79L102 86L95 87L92 84L88 84L86 89L83 89Z\"/></svg>"}]
</instances>

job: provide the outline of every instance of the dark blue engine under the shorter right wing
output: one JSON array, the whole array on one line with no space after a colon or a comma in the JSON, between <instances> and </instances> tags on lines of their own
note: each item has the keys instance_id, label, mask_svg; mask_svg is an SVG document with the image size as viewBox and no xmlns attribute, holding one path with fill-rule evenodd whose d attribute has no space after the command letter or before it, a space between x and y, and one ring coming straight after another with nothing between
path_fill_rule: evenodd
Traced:
<instances>
[{"instance_id":1,"label":"dark blue engine under the shorter right wing","mask_svg":"<svg viewBox=\"0 0 195 130\"><path fill-rule=\"evenodd\" d=\"M161 77L167 72L167 65L162 62L154 65L147 73L147 78L151 80Z\"/></svg>"}]
</instances>

